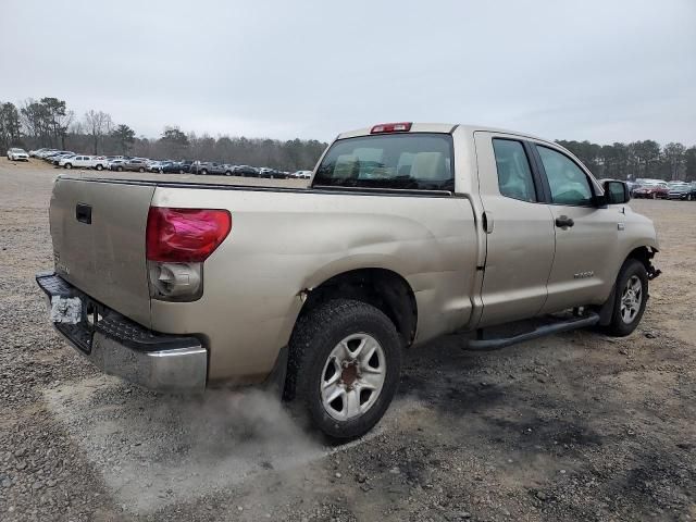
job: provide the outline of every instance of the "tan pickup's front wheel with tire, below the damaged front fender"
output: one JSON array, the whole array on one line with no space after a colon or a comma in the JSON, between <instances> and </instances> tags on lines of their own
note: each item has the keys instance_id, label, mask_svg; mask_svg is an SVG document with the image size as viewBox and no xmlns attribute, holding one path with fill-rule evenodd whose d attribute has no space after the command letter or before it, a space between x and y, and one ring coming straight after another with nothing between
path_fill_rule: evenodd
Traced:
<instances>
[{"instance_id":1,"label":"tan pickup's front wheel with tire, below the damaged front fender","mask_svg":"<svg viewBox=\"0 0 696 522\"><path fill-rule=\"evenodd\" d=\"M636 285L639 284L639 296L636 297ZM627 294L630 287L633 294ZM630 300L631 297L634 299ZM636 302L637 299L637 302ZM629 306L624 307L624 300ZM613 311L607 333L617 337L631 334L643 318L648 300L648 274L645 265L637 259L627 259L617 277ZM627 311L630 309L630 311Z\"/></svg>"}]
</instances>

